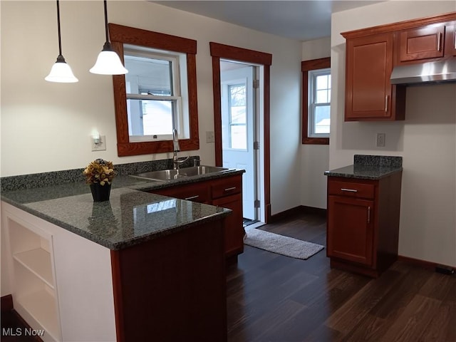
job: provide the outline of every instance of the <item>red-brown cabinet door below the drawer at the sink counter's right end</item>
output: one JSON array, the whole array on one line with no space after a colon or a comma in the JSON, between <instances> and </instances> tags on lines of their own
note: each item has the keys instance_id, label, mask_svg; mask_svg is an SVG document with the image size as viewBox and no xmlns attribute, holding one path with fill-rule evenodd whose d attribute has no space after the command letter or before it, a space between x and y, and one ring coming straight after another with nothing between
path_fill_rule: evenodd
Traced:
<instances>
[{"instance_id":1,"label":"red-brown cabinet door below the drawer at the sink counter's right end","mask_svg":"<svg viewBox=\"0 0 456 342\"><path fill-rule=\"evenodd\" d=\"M242 226L242 194L238 193L212 200L213 205L232 209L225 219L225 253L227 257L244 252L244 227Z\"/></svg>"}]
</instances>

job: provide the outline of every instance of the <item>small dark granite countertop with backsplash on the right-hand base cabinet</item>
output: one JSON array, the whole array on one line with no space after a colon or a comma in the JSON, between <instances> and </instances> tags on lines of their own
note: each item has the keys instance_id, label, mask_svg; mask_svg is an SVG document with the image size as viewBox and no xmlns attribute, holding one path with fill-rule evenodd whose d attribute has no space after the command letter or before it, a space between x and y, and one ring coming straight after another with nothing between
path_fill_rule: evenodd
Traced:
<instances>
[{"instance_id":1,"label":"small dark granite countertop with backsplash on the right-hand base cabinet","mask_svg":"<svg viewBox=\"0 0 456 342\"><path fill-rule=\"evenodd\" d=\"M402 171L402 157L384 155L355 155L353 165L325 172L326 176L379 180Z\"/></svg>"}]
</instances>

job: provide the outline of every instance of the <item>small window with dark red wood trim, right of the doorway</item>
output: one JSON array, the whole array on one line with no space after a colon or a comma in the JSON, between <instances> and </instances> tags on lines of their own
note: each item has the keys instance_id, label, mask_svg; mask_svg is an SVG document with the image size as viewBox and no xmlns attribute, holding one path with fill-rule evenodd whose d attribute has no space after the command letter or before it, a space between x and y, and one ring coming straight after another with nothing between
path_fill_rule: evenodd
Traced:
<instances>
[{"instance_id":1,"label":"small window with dark red wood trim, right of the doorway","mask_svg":"<svg viewBox=\"0 0 456 342\"><path fill-rule=\"evenodd\" d=\"M301 63L303 73L303 144L329 143L331 68L329 58Z\"/></svg>"}]
</instances>

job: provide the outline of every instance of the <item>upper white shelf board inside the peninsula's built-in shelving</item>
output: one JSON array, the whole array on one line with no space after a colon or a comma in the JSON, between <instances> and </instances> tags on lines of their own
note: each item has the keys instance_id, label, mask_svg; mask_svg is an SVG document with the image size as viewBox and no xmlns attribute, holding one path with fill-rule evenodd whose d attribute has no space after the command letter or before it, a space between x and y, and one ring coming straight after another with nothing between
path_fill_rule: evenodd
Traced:
<instances>
[{"instance_id":1,"label":"upper white shelf board inside the peninsula's built-in shelving","mask_svg":"<svg viewBox=\"0 0 456 342\"><path fill-rule=\"evenodd\" d=\"M51 269L51 254L42 248L31 249L30 251L16 253L14 259L22 266L26 267L39 279L44 281L51 289L53 286L53 277Z\"/></svg>"}]
</instances>

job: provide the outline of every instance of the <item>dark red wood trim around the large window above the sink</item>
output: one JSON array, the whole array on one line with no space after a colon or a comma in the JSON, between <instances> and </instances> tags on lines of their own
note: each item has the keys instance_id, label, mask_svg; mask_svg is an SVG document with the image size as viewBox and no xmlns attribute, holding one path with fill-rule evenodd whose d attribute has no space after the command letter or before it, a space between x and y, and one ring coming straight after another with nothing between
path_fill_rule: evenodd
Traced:
<instances>
[{"instance_id":1,"label":"dark red wood trim around the large window above the sink","mask_svg":"<svg viewBox=\"0 0 456 342\"><path fill-rule=\"evenodd\" d=\"M124 43L187 54L190 138L179 140L179 142L180 149L183 151L199 150L196 71L197 41L118 24L109 24L109 34L113 49L119 54L123 63ZM130 142L128 135L125 75L113 75L113 88L118 156L172 152L172 140Z\"/></svg>"}]
</instances>

